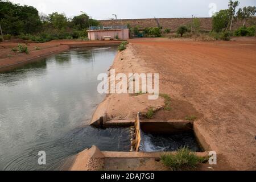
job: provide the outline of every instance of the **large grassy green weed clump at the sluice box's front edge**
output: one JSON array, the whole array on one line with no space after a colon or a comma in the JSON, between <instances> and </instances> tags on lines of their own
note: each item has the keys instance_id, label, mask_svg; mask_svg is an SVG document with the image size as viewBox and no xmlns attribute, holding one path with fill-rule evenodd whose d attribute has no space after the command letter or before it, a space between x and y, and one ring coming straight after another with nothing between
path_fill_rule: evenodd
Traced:
<instances>
[{"instance_id":1,"label":"large grassy green weed clump at the sluice box's front edge","mask_svg":"<svg viewBox=\"0 0 256 182\"><path fill-rule=\"evenodd\" d=\"M164 154L161 161L173 170L195 169L198 164L204 163L205 158L199 157L187 147L180 148L176 154Z\"/></svg>"}]
</instances>

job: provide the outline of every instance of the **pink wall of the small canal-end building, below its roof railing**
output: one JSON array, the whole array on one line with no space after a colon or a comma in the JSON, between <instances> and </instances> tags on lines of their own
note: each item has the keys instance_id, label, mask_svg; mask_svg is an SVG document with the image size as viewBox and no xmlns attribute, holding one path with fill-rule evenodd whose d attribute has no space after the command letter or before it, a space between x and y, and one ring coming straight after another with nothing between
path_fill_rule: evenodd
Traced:
<instances>
[{"instance_id":1,"label":"pink wall of the small canal-end building, below its roof railing","mask_svg":"<svg viewBox=\"0 0 256 182\"><path fill-rule=\"evenodd\" d=\"M88 38L90 40L103 40L104 36L111 36L112 39L115 39L115 36L118 36L119 39L129 39L129 29L88 31Z\"/></svg>"}]
</instances>

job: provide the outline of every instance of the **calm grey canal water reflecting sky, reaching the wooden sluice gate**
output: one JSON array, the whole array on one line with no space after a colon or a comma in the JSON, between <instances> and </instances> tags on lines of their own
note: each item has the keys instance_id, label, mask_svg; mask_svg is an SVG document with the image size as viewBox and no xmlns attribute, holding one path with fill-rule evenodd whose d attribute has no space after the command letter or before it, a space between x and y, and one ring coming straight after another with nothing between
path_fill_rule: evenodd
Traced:
<instances>
[{"instance_id":1,"label":"calm grey canal water reflecting sky, reaching the wooden sluice gate","mask_svg":"<svg viewBox=\"0 0 256 182\"><path fill-rule=\"evenodd\" d=\"M97 76L116 53L117 47L71 49L0 73L0 170L59 170L92 144L129 151L126 129L88 127L105 97ZM39 151L46 152L45 166Z\"/></svg>"}]
</instances>

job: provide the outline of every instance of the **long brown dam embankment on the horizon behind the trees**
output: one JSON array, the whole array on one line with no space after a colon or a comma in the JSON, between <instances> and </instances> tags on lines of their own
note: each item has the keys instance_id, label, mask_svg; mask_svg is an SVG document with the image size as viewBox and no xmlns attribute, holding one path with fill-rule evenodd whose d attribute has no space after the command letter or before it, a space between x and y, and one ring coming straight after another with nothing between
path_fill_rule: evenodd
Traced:
<instances>
[{"instance_id":1,"label":"long brown dam embankment on the horizon behind the trees","mask_svg":"<svg viewBox=\"0 0 256 182\"><path fill-rule=\"evenodd\" d=\"M212 30L212 18L199 18L201 23L201 30ZM102 26L120 26L130 24L131 27L139 26L141 28L146 27L158 27L156 19L118 19L118 20L99 20ZM176 31L179 26L191 24L191 18L158 18L160 26L163 28L170 28L171 31ZM253 18L252 24L255 24L256 17ZM233 29L242 26L241 21L234 23ZM249 21L247 22L249 26Z\"/></svg>"}]
</instances>

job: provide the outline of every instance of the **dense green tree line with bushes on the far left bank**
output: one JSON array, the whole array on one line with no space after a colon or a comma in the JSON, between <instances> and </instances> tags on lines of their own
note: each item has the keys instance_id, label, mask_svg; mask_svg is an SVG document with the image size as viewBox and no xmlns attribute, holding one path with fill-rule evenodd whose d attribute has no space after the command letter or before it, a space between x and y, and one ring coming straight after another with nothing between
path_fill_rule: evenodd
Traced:
<instances>
[{"instance_id":1,"label":"dense green tree line with bushes on the far left bank","mask_svg":"<svg viewBox=\"0 0 256 182\"><path fill-rule=\"evenodd\" d=\"M35 7L0 0L0 24L5 35L44 42L44 39L86 38L89 24L99 23L85 13L73 18L57 12L39 15Z\"/></svg>"}]
</instances>

